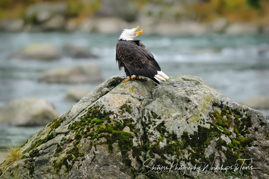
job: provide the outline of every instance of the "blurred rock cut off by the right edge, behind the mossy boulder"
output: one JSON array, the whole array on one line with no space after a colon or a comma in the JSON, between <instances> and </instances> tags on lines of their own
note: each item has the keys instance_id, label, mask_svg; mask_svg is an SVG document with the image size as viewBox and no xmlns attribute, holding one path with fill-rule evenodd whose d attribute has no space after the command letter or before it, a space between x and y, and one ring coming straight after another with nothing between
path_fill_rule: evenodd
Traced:
<instances>
[{"instance_id":1,"label":"blurred rock cut off by the right edge, behind the mossy boulder","mask_svg":"<svg viewBox=\"0 0 269 179\"><path fill-rule=\"evenodd\" d=\"M255 96L241 104L253 109L269 109L269 96Z\"/></svg>"}]
</instances>

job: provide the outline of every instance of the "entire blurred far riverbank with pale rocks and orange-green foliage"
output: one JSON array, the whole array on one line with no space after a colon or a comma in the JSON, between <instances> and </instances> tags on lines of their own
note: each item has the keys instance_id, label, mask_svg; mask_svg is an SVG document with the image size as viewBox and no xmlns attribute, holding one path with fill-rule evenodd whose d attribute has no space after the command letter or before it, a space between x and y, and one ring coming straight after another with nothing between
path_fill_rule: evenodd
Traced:
<instances>
[{"instance_id":1,"label":"entire blurred far riverbank with pale rocks and orange-green foliage","mask_svg":"<svg viewBox=\"0 0 269 179\"><path fill-rule=\"evenodd\" d=\"M177 1L71 2L35 2L22 4L20 8L16 8L17 4L2 8L0 30L116 34L123 28L130 29L139 25L145 34L269 34L269 3L266 1L261 1L262 6L259 8L239 1L234 1L232 5L212 5L211 1L194 1L191 4Z\"/></svg>"}]
</instances>

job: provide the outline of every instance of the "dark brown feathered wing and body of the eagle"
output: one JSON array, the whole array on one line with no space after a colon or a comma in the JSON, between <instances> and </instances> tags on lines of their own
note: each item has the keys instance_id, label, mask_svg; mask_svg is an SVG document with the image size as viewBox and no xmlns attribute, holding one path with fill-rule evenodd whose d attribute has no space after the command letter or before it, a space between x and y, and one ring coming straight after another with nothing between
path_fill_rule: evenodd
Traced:
<instances>
[{"instance_id":1,"label":"dark brown feathered wing and body of the eagle","mask_svg":"<svg viewBox=\"0 0 269 179\"><path fill-rule=\"evenodd\" d=\"M160 71L160 66L152 53L139 40L118 41L116 44L116 60L119 63L119 68L123 63L131 75L152 79L157 75L157 71Z\"/></svg>"}]
</instances>

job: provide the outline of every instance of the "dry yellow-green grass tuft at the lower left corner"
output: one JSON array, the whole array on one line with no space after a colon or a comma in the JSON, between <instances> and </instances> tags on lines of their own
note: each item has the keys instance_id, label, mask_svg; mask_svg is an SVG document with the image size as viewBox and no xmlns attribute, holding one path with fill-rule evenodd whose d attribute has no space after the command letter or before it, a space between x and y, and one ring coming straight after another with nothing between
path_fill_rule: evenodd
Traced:
<instances>
[{"instance_id":1,"label":"dry yellow-green grass tuft at the lower left corner","mask_svg":"<svg viewBox=\"0 0 269 179\"><path fill-rule=\"evenodd\" d=\"M4 162L0 164L2 167L2 173L6 170L7 167L15 163L17 159L22 157L22 152L20 151L20 147L18 147L18 145L19 141L17 145L14 145L14 140L12 139L12 145L7 143L6 145L2 146L5 148L4 150L6 150L6 152L2 152L5 158Z\"/></svg>"}]
</instances>

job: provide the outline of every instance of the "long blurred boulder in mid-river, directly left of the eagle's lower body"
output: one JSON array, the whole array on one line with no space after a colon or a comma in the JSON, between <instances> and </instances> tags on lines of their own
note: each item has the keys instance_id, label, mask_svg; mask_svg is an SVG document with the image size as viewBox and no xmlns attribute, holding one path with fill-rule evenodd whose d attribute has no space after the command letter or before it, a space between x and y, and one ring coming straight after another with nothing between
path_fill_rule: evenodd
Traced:
<instances>
[{"instance_id":1,"label":"long blurred boulder in mid-river, directly left of the eagle's lower body","mask_svg":"<svg viewBox=\"0 0 269 179\"><path fill-rule=\"evenodd\" d=\"M91 62L83 66L53 68L44 71L38 78L46 83L97 83L103 81L100 68Z\"/></svg>"}]
</instances>

